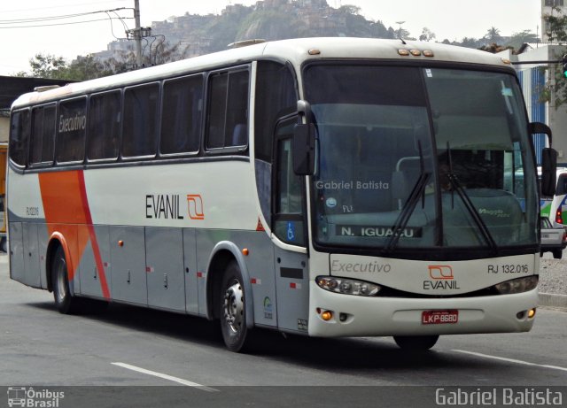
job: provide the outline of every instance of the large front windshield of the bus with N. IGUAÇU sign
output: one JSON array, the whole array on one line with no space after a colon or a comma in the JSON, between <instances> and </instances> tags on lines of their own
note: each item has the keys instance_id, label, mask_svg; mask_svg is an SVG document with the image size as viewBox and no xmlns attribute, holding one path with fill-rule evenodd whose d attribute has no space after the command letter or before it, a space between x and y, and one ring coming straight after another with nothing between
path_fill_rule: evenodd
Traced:
<instances>
[{"instance_id":1,"label":"large front windshield of the bus with N. IGUA\u00c7U sign","mask_svg":"<svg viewBox=\"0 0 567 408\"><path fill-rule=\"evenodd\" d=\"M329 86L332 84L332 86ZM537 244L522 93L508 73L308 65L315 241L402 249Z\"/></svg>"}]
</instances>

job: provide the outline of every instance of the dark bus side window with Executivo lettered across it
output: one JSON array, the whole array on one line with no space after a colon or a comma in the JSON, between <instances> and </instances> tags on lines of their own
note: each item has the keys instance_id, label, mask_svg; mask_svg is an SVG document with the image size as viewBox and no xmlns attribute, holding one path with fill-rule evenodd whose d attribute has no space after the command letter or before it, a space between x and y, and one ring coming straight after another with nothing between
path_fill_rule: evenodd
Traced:
<instances>
[{"instance_id":1,"label":"dark bus side window with Executivo lettered across it","mask_svg":"<svg viewBox=\"0 0 567 408\"><path fill-rule=\"evenodd\" d=\"M55 155L58 163L82 161L85 155L87 98L59 104Z\"/></svg>"}]
</instances>

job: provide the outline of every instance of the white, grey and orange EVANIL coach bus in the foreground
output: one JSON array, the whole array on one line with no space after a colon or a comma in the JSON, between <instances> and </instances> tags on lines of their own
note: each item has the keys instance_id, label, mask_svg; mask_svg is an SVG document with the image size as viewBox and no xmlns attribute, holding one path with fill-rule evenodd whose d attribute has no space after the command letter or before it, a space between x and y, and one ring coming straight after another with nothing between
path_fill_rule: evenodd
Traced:
<instances>
[{"instance_id":1,"label":"white, grey and orange EVANIL coach bus in the foreground","mask_svg":"<svg viewBox=\"0 0 567 408\"><path fill-rule=\"evenodd\" d=\"M98 299L219 320L233 351L257 327L416 350L530 330L531 137L551 132L528 123L509 61L402 40L236 45L12 104L13 280L62 313Z\"/></svg>"}]
</instances>

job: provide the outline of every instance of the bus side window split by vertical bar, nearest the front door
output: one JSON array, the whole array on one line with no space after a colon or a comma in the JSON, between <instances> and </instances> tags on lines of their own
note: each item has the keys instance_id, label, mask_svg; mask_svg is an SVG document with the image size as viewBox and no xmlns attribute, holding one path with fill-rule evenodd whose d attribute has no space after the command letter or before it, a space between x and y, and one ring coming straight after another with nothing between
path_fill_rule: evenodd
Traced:
<instances>
[{"instance_id":1,"label":"bus side window split by vertical bar, nearest the front door","mask_svg":"<svg viewBox=\"0 0 567 408\"><path fill-rule=\"evenodd\" d=\"M248 70L213 73L209 77L206 148L248 144Z\"/></svg>"}]
</instances>

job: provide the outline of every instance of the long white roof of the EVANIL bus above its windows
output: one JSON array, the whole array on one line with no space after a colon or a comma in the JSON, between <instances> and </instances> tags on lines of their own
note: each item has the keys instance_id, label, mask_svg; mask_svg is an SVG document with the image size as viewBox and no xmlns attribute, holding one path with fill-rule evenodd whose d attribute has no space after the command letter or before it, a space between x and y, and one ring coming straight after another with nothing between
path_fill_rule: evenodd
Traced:
<instances>
[{"instance_id":1,"label":"long white roof of the EVANIL bus above its windows","mask_svg":"<svg viewBox=\"0 0 567 408\"><path fill-rule=\"evenodd\" d=\"M407 52L406 52L407 51ZM428 51L428 52L423 52ZM406 54L406 55L403 55ZM429 55L429 56L426 56ZM492 65L511 68L509 62L489 52L439 44L375 38L314 37L255 43L250 46L223 50L195 58L183 59L164 65L152 66L129 73L98 78L96 80L67 84L58 89L30 92L19 96L14 107L41 104L60 98L80 96L135 85L141 82L159 81L183 74L245 64L260 58L277 58L299 67L309 59L362 58L400 61L433 60L459 62L474 65Z\"/></svg>"}]
</instances>

